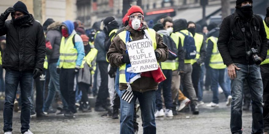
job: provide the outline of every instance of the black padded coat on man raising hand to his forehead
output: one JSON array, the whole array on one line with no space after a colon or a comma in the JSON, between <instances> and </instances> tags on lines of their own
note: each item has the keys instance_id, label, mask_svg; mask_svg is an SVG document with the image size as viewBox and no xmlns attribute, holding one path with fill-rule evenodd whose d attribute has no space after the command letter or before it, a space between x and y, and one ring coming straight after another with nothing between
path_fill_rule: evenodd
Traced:
<instances>
[{"instance_id":1,"label":"black padded coat on man raising hand to his forehead","mask_svg":"<svg viewBox=\"0 0 269 134\"><path fill-rule=\"evenodd\" d=\"M6 49L2 59L5 69L32 71L43 70L46 43L42 26L34 17L24 15L24 23L15 25L3 14L0 16L0 36L6 34Z\"/></svg>"}]
</instances>

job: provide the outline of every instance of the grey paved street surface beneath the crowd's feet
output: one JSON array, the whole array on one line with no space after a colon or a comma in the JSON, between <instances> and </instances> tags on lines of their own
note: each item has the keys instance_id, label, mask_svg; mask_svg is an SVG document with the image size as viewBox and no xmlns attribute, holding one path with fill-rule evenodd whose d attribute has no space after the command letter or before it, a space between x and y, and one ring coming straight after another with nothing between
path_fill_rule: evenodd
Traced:
<instances>
[{"instance_id":1,"label":"grey paved street surface beneath the crowd's feet","mask_svg":"<svg viewBox=\"0 0 269 134\"><path fill-rule=\"evenodd\" d=\"M223 96L223 95L221 95ZM207 103L206 103L207 104ZM190 112L180 112L173 118L157 118L158 134L230 134L230 107L221 102L219 108L200 107L200 115ZM3 133L3 115L0 112L0 133ZM76 118L56 117L51 114L48 118L31 119L31 131L34 134L117 134L120 120L101 118L104 112L77 113ZM138 115L140 115L140 111ZM142 120L138 118L139 134L142 134ZM243 111L244 133L251 133L251 112ZM20 116L14 113L13 133L20 134Z\"/></svg>"}]
</instances>

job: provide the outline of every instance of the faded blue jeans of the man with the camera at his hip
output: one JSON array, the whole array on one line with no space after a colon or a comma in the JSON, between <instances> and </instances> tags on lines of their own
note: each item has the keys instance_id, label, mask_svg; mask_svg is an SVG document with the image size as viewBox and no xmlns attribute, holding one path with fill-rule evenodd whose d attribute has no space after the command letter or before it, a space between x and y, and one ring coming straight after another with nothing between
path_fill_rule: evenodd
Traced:
<instances>
[{"instance_id":1,"label":"faded blue jeans of the man with the camera at his hip","mask_svg":"<svg viewBox=\"0 0 269 134\"><path fill-rule=\"evenodd\" d=\"M252 134L263 133L263 83L259 65L235 64L236 78L231 80L232 104L231 122L232 133L242 133L242 99L245 79L249 83L252 98Z\"/></svg>"}]
</instances>

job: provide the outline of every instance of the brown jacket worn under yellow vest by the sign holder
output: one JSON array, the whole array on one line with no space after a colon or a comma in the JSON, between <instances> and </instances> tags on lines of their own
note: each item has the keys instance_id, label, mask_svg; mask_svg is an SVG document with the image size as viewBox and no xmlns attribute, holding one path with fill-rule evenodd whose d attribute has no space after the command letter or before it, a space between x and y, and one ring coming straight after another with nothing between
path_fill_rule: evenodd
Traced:
<instances>
[{"instance_id":1,"label":"brown jacket worn under yellow vest by the sign holder","mask_svg":"<svg viewBox=\"0 0 269 134\"><path fill-rule=\"evenodd\" d=\"M140 40L144 38L143 30L147 29L148 26L144 25L142 28L138 31L135 31L130 26L126 26L125 30L128 30L131 32L132 39ZM168 47L166 44L163 43L163 39L160 36L160 34L156 33L156 42L157 42L157 48L155 51L157 51L160 55L160 58L157 59L158 62L164 62L168 59ZM124 42L120 39L120 37L117 35L111 42L111 45L109 47L109 51L107 52L107 57L109 60L109 63L112 67L119 67L123 64L121 61L121 57L126 52L126 45ZM154 81L153 78L150 77L141 77L137 80L135 80L131 84L132 90L138 91L138 92L146 92L149 90L157 90L158 89L158 83ZM126 83L120 83L120 90L127 89Z\"/></svg>"}]
</instances>

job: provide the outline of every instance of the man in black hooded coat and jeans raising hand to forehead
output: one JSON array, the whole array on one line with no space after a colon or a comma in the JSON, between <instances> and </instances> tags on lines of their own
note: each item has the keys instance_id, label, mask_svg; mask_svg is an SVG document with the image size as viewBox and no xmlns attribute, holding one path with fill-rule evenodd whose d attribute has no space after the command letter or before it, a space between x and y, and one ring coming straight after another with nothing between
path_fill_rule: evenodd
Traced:
<instances>
[{"instance_id":1,"label":"man in black hooded coat and jeans raising hand to forehead","mask_svg":"<svg viewBox=\"0 0 269 134\"><path fill-rule=\"evenodd\" d=\"M12 19L7 20L11 14ZM6 98L4 104L4 132L12 132L13 104L18 84L21 87L21 133L30 129L31 98L34 79L42 74L46 43L42 26L29 14L26 5L18 1L0 16L0 36L6 35L6 49L2 67L6 69Z\"/></svg>"}]
</instances>

